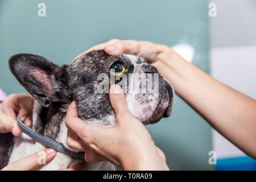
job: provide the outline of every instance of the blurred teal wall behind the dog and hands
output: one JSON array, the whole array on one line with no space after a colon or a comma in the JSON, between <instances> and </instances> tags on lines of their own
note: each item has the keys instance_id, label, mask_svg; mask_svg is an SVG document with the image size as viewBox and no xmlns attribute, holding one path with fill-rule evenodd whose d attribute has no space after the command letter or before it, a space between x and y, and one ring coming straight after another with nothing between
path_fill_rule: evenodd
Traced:
<instances>
[{"instance_id":1,"label":"blurred teal wall behind the dog and hands","mask_svg":"<svg viewBox=\"0 0 256 182\"><path fill-rule=\"evenodd\" d=\"M38 3L46 3L46 17ZM195 47L193 63L208 72L207 1L0 1L0 87L26 92L11 75L15 53L42 55L67 64L89 47L109 39L148 40ZM191 88L193 89L193 88ZM147 126L171 169L213 169L210 126L176 96L173 114Z\"/></svg>"}]
</instances>

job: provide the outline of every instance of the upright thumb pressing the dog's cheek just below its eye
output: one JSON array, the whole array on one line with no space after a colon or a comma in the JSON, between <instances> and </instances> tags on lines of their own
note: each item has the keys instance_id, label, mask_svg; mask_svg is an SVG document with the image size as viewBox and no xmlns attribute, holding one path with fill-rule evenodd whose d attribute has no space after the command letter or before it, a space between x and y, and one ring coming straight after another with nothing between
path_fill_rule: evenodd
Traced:
<instances>
[{"instance_id":1,"label":"upright thumb pressing the dog's cheek just below its eye","mask_svg":"<svg viewBox=\"0 0 256 182\"><path fill-rule=\"evenodd\" d=\"M130 111L127 107L127 102L125 98L125 94L123 93L122 88L119 85L112 85L109 89L109 98L111 105L115 111L115 117L117 121L119 121L119 115L130 114ZM122 119L121 119L122 120Z\"/></svg>"}]
</instances>

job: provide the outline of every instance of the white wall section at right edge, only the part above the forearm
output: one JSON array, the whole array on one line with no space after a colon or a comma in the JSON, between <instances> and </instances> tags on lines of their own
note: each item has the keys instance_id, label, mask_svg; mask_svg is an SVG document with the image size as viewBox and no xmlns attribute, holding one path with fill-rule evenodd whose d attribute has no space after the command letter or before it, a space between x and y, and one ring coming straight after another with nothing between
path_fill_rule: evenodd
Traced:
<instances>
[{"instance_id":1,"label":"white wall section at right edge, only the part above the forearm","mask_svg":"<svg viewBox=\"0 0 256 182\"><path fill-rule=\"evenodd\" d=\"M256 99L256 46L213 48L210 57L214 78Z\"/></svg>"}]
</instances>

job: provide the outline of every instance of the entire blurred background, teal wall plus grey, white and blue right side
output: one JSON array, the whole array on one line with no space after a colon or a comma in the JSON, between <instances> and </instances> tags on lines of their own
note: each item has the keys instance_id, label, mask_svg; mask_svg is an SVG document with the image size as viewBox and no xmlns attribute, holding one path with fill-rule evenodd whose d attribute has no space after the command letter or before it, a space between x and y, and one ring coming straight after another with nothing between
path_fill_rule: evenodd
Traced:
<instances>
[{"instance_id":1,"label":"entire blurred background, teal wall plus grey, white and blue right side","mask_svg":"<svg viewBox=\"0 0 256 182\"><path fill-rule=\"evenodd\" d=\"M217 16L209 16L211 2ZM39 3L46 5L46 16L38 15ZM9 70L8 60L15 53L68 64L95 44L117 38L173 47L217 80L255 99L255 18L254 0L1 0L0 88L6 94L26 93ZM177 95L171 117L147 129L173 170L256 169L255 160L212 130ZM217 164L209 164L210 151L217 152Z\"/></svg>"}]
</instances>

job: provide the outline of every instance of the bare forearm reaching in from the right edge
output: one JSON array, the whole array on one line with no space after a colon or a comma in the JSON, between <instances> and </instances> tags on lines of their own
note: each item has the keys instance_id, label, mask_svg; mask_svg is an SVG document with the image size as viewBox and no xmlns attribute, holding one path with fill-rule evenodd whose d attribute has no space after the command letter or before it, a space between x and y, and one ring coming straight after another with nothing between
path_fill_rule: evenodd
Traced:
<instances>
[{"instance_id":1,"label":"bare forearm reaching in from the right edge","mask_svg":"<svg viewBox=\"0 0 256 182\"><path fill-rule=\"evenodd\" d=\"M256 101L218 82L168 50L157 65L177 94L210 125L256 158Z\"/></svg>"}]
</instances>

